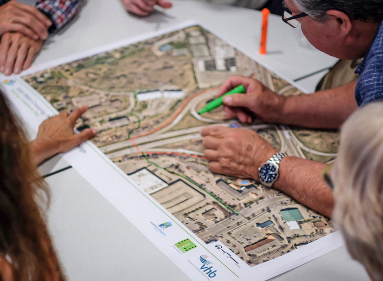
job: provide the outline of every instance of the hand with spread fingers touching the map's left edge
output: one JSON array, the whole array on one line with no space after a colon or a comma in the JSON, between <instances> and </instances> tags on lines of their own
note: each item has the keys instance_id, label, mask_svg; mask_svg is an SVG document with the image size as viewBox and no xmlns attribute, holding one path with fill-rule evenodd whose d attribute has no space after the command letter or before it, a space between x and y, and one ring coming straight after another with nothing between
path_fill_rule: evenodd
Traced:
<instances>
[{"instance_id":1,"label":"hand with spread fingers touching the map's left edge","mask_svg":"<svg viewBox=\"0 0 383 281\"><path fill-rule=\"evenodd\" d=\"M57 153L64 153L93 137L96 129L74 133L76 121L88 109L82 106L69 114L66 110L46 119L39 127L35 140L31 142L36 164Z\"/></svg>"}]
</instances>

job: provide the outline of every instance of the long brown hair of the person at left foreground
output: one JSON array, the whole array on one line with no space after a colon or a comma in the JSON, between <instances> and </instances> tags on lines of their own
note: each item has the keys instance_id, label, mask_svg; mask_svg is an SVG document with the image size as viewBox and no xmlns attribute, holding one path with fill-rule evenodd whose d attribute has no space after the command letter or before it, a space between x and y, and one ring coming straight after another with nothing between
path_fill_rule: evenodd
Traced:
<instances>
[{"instance_id":1,"label":"long brown hair of the person at left foreground","mask_svg":"<svg viewBox=\"0 0 383 281\"><path fill-rule=\"evenodd\" d=\"M42 214L49 190L0 91L0 256L15 281L64 280ZM39 204L38 204L39 203ZM0 272L0 280L4 279Z\"/></svg>"}]
</instances>

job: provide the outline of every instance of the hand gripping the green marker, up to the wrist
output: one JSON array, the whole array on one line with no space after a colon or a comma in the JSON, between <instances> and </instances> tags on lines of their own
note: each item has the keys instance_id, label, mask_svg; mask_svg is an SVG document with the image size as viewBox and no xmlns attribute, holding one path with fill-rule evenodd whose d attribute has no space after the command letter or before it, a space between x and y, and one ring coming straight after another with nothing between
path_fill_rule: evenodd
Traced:
<instances>
[{"instance_id":1,"label":"hand gripping the green marker, up to the wrist","mask_svg":"<svg viewBox=\"0 0 383 281\"><path fill-rule=\"evenodd\" d=\"M246 94L224 97L226 118L233 118L236 115L240 122L251 123L255 115L263 121L274 122L276 116L282 112L286 98L274 93L258 80L245 76L232 76L227 79L217 97L239 85L245 87Z\"/></svg>"}]
</instances>

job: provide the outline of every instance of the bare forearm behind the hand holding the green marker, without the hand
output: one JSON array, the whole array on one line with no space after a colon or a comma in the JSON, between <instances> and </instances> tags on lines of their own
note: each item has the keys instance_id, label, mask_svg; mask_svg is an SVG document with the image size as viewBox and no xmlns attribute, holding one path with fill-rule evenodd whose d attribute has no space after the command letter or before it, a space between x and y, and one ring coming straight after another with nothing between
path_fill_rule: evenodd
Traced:
<instances>
[{"instance_id":1,"label":"bare forearm behind the hand holding the green marker, without the hand","mask_svg":"<svg viewBox=\"0 0 383 281\"><path fill-rule=\"evenodd\" d=\"M343 87L286 98L276 123L338 129L357 108L356 82Z\"/></svg>"}]
</instances>

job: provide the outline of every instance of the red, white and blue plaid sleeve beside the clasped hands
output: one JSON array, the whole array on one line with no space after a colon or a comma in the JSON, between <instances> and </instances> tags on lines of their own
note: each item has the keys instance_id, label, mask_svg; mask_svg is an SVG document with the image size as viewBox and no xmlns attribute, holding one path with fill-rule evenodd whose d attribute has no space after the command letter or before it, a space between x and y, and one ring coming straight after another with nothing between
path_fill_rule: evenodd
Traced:
<instances>
[{"instance_id":1,"label":"red, white and blue plaid sleeve beside the clasped hands","mask_svg":"<svg viewBox=\"0 0 383 281\"><path fill-rule=\"evenodd\" d=\"M82 0L38 0L36 8L46 14L58 30L80 9Z\"/></svg>"}]
</instances>

